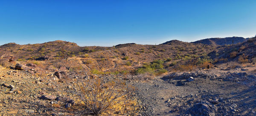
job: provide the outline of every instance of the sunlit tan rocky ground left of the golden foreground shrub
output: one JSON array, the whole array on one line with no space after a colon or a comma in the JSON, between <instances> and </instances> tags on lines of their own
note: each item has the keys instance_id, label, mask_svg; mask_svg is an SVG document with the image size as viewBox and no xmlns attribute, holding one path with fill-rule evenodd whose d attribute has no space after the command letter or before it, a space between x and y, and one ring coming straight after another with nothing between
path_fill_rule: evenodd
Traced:
<instances>
[{"instance_id":1,"label":"sunlit tan rocky ground left of the golden foreground shrub","mask_svg":"<svg viewBox=\"0 0 256 116\"><path fill-rule=\"evenodd\" d=\"M65 108L73 105L72 96L67 93L71 87L53 73L38 75L36 71L1 69L0 115L73 115Z\"/></svg>"}]
</instances>

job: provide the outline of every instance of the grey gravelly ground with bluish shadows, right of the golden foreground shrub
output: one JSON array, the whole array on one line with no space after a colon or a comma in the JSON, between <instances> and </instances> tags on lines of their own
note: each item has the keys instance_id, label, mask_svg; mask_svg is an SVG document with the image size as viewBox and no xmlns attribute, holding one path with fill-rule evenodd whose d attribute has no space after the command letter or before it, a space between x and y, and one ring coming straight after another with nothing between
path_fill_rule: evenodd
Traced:
<instances>
[{"instance_id":1,"label":"grey gravelly ground with bluish shadows, right of the golden foreground shrub","mask_svg":"<svg viewBox=\"0 0 256 116\"><path fill-rule=\"evenodd\" d=\"M215 68L134 83L143 105L141 115L255 116L256 75L253 69L255 67Z\"/></svg>"}]
</instances>

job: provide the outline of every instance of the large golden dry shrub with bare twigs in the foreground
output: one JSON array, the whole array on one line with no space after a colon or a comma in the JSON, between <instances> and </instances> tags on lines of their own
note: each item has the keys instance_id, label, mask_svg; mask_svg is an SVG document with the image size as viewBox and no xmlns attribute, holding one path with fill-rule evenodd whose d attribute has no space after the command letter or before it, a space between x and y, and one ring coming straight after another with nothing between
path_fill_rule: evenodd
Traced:
<instances>
[{"instance_id":1,"label":"large golden dry shrub with bare twigs in the foreground","mask_svg":"<svg viewBox=\"0 0 256 116\"><path fill-rule=\"evenodd\" d=\"M121 80L87 79L73 85L73 93L84 106L83 114L131 114L137 110L136 100L129 99L128 86Z\"/></svg>"}]
</instances>

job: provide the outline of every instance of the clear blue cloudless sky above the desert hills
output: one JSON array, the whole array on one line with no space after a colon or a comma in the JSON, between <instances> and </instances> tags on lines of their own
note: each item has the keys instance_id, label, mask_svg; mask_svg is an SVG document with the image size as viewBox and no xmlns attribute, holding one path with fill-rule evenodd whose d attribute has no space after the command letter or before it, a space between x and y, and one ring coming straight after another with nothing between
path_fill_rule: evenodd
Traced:
<instances>
[{"instance_id":1,"label":"clear blue cloudless sky above the desert hills","mask_svg":"<svg viewBox=\"0 0 256 116\"><path fill-rule=\"evenodd\" d=\"M253 37L256 0L1 0L0 45L80 46Z\"/></svg>"}]
</instances>

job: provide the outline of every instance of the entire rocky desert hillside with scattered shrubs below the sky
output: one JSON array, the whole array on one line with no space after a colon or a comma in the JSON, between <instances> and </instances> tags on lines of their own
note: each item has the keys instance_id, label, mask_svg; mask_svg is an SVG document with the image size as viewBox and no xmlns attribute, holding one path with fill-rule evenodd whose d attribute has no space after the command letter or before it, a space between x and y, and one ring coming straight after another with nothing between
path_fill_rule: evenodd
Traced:
<instances>
[{"instance_id":1,"label":"entire rocky desert hillside with scattered shrubs below the sky","mask_svg":"<svg viewBox=\"0 0 256 116\"><path fill-rule=\"evenodd\" d=\"M1 45L0 114L253 116L256 38L217 40Z\"/></svg>"}]
</instances>

